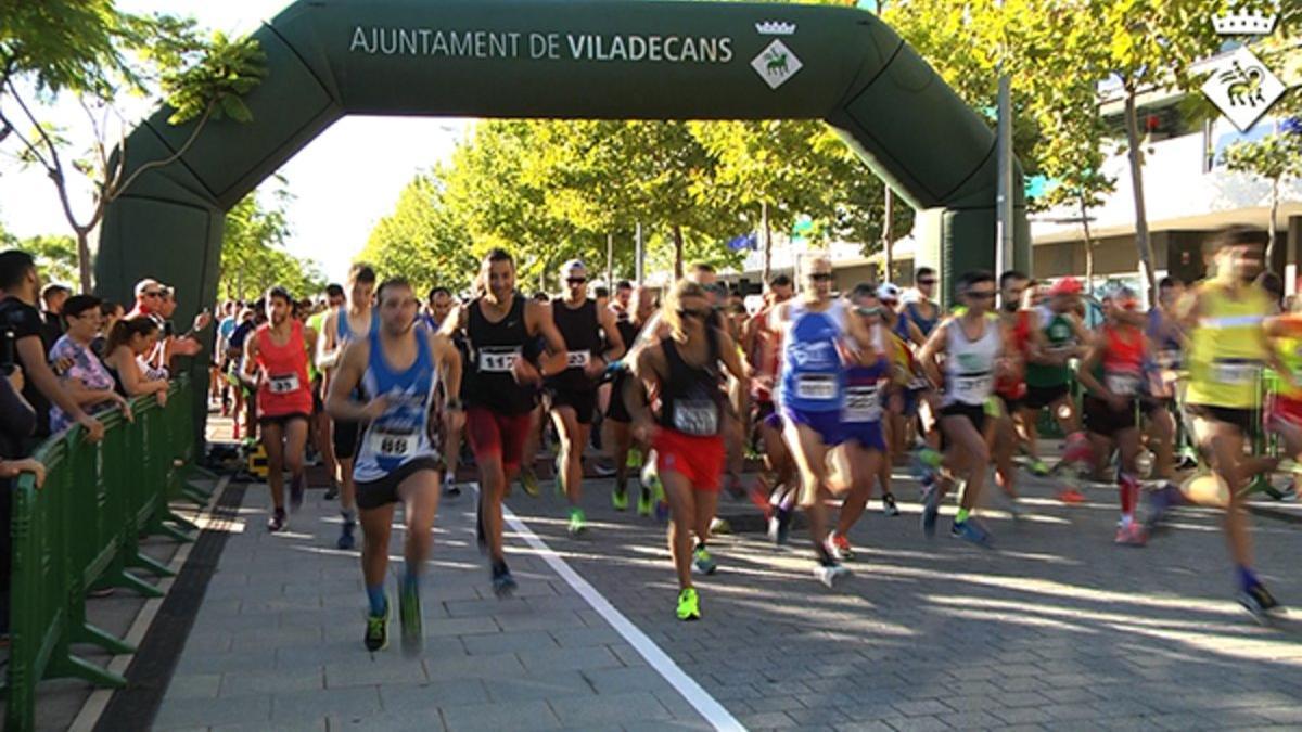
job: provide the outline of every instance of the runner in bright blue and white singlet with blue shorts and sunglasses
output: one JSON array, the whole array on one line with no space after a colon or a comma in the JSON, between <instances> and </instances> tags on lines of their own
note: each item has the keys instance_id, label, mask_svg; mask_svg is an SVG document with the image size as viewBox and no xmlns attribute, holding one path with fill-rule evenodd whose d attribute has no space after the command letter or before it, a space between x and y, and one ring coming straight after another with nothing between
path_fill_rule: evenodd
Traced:
<instances>
[{"instance_id":1,"label":"runner in bright blue and white singlet with blue shorts and sunglasses","mask_svg":"<svg viewBox=\"0 0 1302 732\"><path fill-rule=\"evenodd\" d=\"M814 576L833 586L849 570L828 550L827 453L844 439L841 410L845 408L845 362L853 341L865 363L876 361L867 328L848 318L845 302L832 297L832 262L814 258L805 274L805 293L773 309L772 327L783 333L783 378L777 402L783 413L783 438L801 472L801 505L810 517L810 534L818 567Z\"/></svg>"}]
</instances>

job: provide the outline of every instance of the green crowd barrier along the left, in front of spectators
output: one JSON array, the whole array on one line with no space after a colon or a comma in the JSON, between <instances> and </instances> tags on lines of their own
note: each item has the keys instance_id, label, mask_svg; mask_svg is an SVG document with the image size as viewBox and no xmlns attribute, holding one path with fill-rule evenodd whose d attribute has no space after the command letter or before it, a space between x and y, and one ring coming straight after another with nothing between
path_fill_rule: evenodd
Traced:
<instances>
[{"instance_id":1,"label":"green crowd barrier along the left, in front of spectators","mask_svg":"<svg viewBox=\"0 0 1302 732\"><path fill-rule=\"evenodd\" d=\"M9 610L9 668L4 686L5 729L35 727L36 684L78 677L121 688L126 680L79 656L72 646L91 643L113 654L135 649L86 621L86 591L129 587L161 597L133 569L172 572L139 550L142 537L191 541L193 529L168 508L187 498L185 468L194 451L191 386L173 383L167 405L151 396L132 402L134 421L120 412L102 415L104 440L90 444L74 426L35 452L47 469L36 490L31 475L13 490L13 578Z\"/></svg>"}]
</instances>

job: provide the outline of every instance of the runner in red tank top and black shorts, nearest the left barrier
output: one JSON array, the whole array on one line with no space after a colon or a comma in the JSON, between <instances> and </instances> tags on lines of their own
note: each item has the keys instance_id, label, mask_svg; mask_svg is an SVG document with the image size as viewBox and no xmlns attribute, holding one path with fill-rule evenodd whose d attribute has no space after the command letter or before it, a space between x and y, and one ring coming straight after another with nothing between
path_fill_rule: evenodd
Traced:
<instances>
[{"instance_id":1,"label":"runner in red tank top and black shorts, nearest the left barrier","mask_svg":"<svg viewBox=\"0 0 1302 732\"><path fill-rule=\"evenodd\" d=\"M285 528L285 466L293 475L289 500L296 511L307 490L303 448L312 413L307 353L315 352L316 333L292 317L294 301L285 288L271 288L266 300L268 322L245 345L245 370L258 379L258 423L275 504L267 529L280 531Z\"/></svg>"}]
</instances>

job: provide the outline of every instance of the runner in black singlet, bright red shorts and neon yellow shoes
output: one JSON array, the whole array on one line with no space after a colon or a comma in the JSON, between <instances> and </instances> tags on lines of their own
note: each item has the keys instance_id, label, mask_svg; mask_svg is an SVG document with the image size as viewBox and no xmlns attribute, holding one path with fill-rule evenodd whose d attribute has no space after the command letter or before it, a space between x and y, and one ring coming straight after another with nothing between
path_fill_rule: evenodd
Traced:
<instances>
[{"instance_id":1,"label":"runner in black singlet, bright red shorts and neon yellow shoes","mask_svg":"<svg viewBox=\"0 0 1302 732\"><path fill-rule=\"evenodd\" d=\"M660 482L669 500L669 555L678 572L678 620L699 620L691 567L695 563L706 573L713 570L706 539L724 469L727 396L720 388L720 363L743 386L747 374L728 333L706 324L711 307L700 285L680 281L661 313L669 335L638 353L633 366L637 378L628 382L625 399L633 434L655 445L659 456ZM654 417L647 395L659 401Z\"/></svg>"}]
</instances>

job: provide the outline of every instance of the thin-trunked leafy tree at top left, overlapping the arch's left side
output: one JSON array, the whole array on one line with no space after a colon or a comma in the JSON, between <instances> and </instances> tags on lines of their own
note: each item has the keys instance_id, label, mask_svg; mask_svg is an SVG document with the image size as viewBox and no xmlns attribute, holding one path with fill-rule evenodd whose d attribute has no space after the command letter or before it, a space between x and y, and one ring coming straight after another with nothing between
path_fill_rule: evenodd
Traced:
<instances>
[{"instance_id":1,"label":"thin-trunked leafy tree at top left, overlapping the arch's left side","mask_svg":"<svg viewBox=\"0 0 1302 732\"><path fill-rule=\"evenodd\" d=\"M241 96L262 79L263 53L251 39L206 36L190 20L124 13L113 0L3 0L0 31L0 143L53 184L89 292L90 238L108 204L145 172L180 160L208 121L249 121ZM171 155L126 175L118 104L130 96L160 98L173 109L169 124L191 128ZM89 148L49 121L60 102L85 112L83 134L72 137L90 138ZM77 176L91 189L87 204L74 202Z\"/></svg>"}]
</instances>

